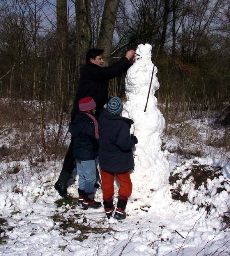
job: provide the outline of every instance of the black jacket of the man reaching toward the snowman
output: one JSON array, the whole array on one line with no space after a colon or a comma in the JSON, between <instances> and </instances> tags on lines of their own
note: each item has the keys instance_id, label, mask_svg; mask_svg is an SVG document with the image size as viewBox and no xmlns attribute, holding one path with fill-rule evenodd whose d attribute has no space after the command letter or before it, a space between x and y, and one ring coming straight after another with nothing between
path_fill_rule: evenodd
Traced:
<instances>
[{"instance_id":1,"label":"black jacket of the man reaching toward the snowman","mask_svg":"<svg viewBox=\"0 0 230 256\"><path fill-rule=\"evenodd\" d=\"M73 102L71 120L78 111L78 102L82 98L91 97L96 102L96 108L100 110L108 100L108 81L126 72L130 64L126 57L109 67L101 67L93 63L80 68L80 77L77 95Z\"/></svg>"}]
</instances>

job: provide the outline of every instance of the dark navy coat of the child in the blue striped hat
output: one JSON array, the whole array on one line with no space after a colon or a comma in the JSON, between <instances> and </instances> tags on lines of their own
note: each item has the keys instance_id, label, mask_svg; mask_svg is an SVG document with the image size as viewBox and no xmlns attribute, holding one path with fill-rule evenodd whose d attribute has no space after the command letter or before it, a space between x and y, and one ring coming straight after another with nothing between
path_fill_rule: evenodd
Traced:
<instances>
[{"instance_id":1,"label":"dark navy coat of the child in the blue striped hat","mask_svg":"<svg viewBox=\"0 0 230 256\"><path fill-rule=\"evenodd\" d=\"M134 169L134 141L130 138L133 123L131 119L111 115L106 110L100 115L98 157L104 171L122 173Z\"/></svg>"}]
</instances>

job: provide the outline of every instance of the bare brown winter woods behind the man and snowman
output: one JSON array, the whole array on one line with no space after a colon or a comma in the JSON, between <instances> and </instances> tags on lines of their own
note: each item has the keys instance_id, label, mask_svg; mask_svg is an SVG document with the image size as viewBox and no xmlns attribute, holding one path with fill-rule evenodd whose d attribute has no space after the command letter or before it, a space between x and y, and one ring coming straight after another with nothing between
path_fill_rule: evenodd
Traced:
<instances>
[{"instance_id":1,"label":"bare brown winter woods behind the man and snowman","mask_svg":"<svg viewBox=\"0 0 230 256\"><path fill-rule=\"evenodd\" d=\"M2 121L23 129L35 120L48 150L44 129L54 118L62 144L88 48L104 48L108 65L140 43L153 45L166 122L179 109L220 110L229 101L229 0L1 0ZM122 96L124 77L110 89Z\"/></svg>"}]
</instances>

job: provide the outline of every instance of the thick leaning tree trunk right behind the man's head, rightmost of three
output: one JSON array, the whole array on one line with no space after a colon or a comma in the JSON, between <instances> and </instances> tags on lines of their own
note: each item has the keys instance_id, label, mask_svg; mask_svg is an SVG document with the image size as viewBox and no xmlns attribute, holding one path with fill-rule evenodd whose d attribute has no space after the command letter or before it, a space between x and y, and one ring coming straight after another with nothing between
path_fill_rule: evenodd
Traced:
<instances>
[{"instance_id":1,"label":"thick leaning tree trunk right behind the man's head, rightmost of three","mask_svg":"<svg viewBox=\"0 0 230 256\"><path fill-rule=\"evenodd\" d=\"M120 0L106 0L102 20L100 25L100 33L97 42L97 48L104 49L104 65L108 66L111 53L112 39L114 33L114 24L118 5Z\"/></svg>"}]
</instances>

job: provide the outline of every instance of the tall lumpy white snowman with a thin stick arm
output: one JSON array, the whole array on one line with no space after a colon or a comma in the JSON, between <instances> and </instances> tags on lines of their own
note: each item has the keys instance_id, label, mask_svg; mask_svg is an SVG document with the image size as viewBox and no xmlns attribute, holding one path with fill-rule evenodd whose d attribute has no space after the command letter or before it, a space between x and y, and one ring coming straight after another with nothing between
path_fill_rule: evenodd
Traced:
<instances>
[{"instance_id":1,"label":"tall lumpy white snowman with a thin stick arm","mask_svg":"<svg viewBox=\"0 0 230 256\"><path fill-rule=\"evenodd\" d=\"M157 98L154 96L159 82L157 67L151 61L151 49L149 44L140 44L136 50L138 55L126 75L127 102L122 112L122 116L134 120L133 131L138 138L134 150L135 170L131 174L133 192L130 199L139 198L149 205L156 195L155 191L158 190L159 194L160 190L165 190L169 178L169 164L160 150L165 119L157 109ZM144 112L150 82L151 90Z\"/></svg>"}]
</instances>

